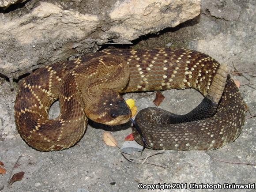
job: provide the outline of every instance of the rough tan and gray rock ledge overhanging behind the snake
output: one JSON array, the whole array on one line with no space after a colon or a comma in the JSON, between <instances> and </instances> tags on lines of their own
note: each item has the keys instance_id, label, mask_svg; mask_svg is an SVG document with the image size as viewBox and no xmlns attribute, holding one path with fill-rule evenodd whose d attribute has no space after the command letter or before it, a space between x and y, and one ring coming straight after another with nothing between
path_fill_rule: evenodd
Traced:
<instances>
[{"instance_id":1,"label":"rough tan and gray rock ledge overhanging behind the snake","mask_svg":"<svg viewBox=\"0 0 256 192\"><path fill-rule=\"evenodd\" d=\"M23 1L0 2L7 7ZM0 28L0 72L17 79L34 65L81 56L108 43L131 44L141 35L177 26L199 14L200 0L72 4L32 0L19 11L0 14L0 23L4 23Z\"/></svg>"}]
</instances>

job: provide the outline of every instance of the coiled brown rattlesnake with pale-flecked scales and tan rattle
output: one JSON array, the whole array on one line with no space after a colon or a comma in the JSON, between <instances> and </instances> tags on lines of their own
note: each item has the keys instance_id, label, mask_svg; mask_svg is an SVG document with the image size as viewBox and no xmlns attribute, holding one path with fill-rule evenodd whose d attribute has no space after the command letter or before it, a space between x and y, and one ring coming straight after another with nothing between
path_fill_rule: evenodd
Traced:
<instances>
[{"instance_id":1,"label":"coiled brown rattlesnake with pale-flecked scales and tan rattle","mask_svg":"<svg viewBox=\"0 0 256 192\"><path fill-rule=\"evenodd\" d=\"M216 149L236 139L245 120L245 103L228 72L210 56L188 49L105 49L24 78L15 122L31 147L63 150L83 136L87 118L108 125L128 122L131 112L120 93L192 87L216 106L211 117L193 121L206 108L192 111L190 120L169 124L168 112L149 108L135 121L154 149ZM49 108L57 99L60 115L50 120ZM135 129L133 134L142 143Z\"/></svg>"}]
</instances>

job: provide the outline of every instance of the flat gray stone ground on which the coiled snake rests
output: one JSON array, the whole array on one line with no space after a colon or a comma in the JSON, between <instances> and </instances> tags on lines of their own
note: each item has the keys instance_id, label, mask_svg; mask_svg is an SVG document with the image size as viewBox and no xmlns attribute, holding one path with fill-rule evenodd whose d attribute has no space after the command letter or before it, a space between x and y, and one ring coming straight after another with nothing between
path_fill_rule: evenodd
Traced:
<instances>
[{"instance_id":1,"label":"flat gray stone ground on which the coiled snake rests","mask_svg":"<svg viewBox=\"0 0 256 192\"><path fill-rule=\"evenodd\" d=\"M239 71L247 72L243 73L244 76L236 75L233 78L241 82L241 94L248 109L255 114L255 6L253 0L203 0L202 13L199 17L174 29L164 30L159 35L142 38L135 47L164 47L168 44L197 49L215 57L220 63L234 65ZM147 162L167 166L164 169L149 164L139 165L128 162L118 148L108 147L103 143L104 130L91 128L91 126L88 126L87 132L78 145L68 150L45 153L30 148L15 131L13 106L18 89L17 84L14 89L11 92L9 83L5 80L0 81L0 161L4 162L7 170L10 171L20 154L26 153L33 158L26 156L20 159L20 165L14 169L14 173L24 171L25 176L22 181L15 182L11 189L7 189L10 172L0 175L0 188L5 185L4 191L132 192L138 191L138 183L247 184L256 182L256 166L235 164L235 162L255 163L255 117L247 119L241 135L233 143L221 149L166 150L164 154L148 158ZM163 94L166 98L159 107L174 113L186 113L202 100L202 96L195 90L166 90ZM152 102L154 94L151 92L125 94L124 98L135 99L138 110L154 106ZM57 104L56 102L51 109L51 117L58 113ZM249 116L249 113L246 115ZM111 133L121 145L124 138L131 133L131 128ZM152 150L146 149L143 156L149 153L152 153ZM140 153L136 155L136 158L138 157ZM233 163L220 162L214 158ZM177 191L195 190L187 188ZM222 188L218 191L225 190Z\"/></svg>"}]
</instances>

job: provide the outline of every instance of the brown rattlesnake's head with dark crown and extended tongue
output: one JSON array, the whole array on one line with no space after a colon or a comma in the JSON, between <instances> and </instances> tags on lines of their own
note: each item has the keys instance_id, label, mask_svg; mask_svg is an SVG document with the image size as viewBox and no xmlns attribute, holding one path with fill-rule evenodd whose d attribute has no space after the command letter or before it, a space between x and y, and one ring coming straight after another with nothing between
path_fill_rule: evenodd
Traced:
<instances>
[{"instance_id":1,"label":"brown rattlesnake's head with dark crown and extended tongue","mask_svg":"<svg viewBox=\"0 0 256 192\"><path fill-rule=\"evenodd\" d=\"M124 124L132 117L131 109L124 99L117 92L109 89L105 89L99 101L91 109L86 113L87 117L106 125Z\"/></svg>"}]
</instances>

